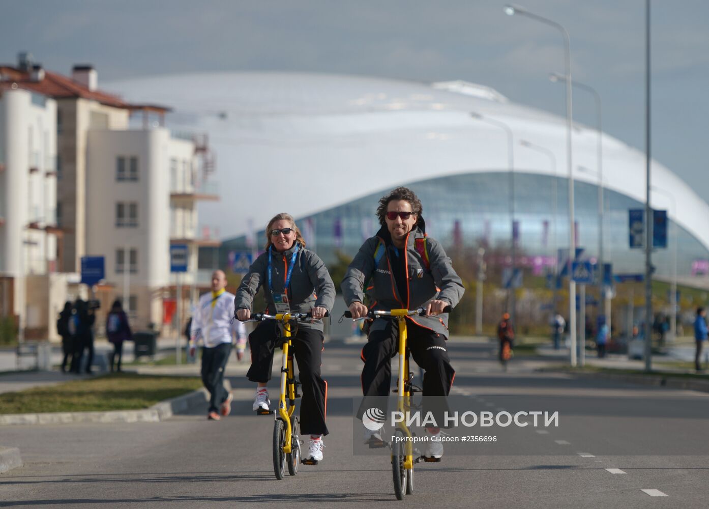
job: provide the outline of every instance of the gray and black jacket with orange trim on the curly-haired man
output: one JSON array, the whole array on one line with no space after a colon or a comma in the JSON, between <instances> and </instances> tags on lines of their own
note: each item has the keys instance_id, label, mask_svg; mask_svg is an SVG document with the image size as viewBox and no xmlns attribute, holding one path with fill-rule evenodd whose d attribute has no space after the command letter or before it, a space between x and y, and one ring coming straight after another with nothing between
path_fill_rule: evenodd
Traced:
<instances>
[{"instance_id":1,"label":"gray and black jacket with orange trim on the curly-haired man","mask_svg":"<svg viewBox=\"0 0 709 509\"><path fill-rule=\"evenodd\" d=\"M416 226L406 237L406 250L404 250L404 266L407 274L408 302L402 302L396 287L396 281L391 273L390 250L391 235L386 226L382 226L376 236L367 239L359 248L357 256L347 268L345 278L342 280L342 295L345 297L347 307L352 302L364 302L364 284L369 281L367 294L374 302L370 307L374 310L415 310L418 307L425 307L430 300L444 300L451 307L455 307L465 291L462 280L453 270L450 258L446 255L442 246L426 237L428 244L428 258L430 270L426 270L423 257L415 249L415 239L422 239L425 236L425 223L420 218ZM374 251L379 243L383 242L387 247L386 254L381 257L378 266L374 266ZM413 317L410 318L415 324L432 329L432 331L448 336L448 314L437 316ZM386 322L376 319L372 322L370 332L384 329Z\"/></svg>"}]
</instances>

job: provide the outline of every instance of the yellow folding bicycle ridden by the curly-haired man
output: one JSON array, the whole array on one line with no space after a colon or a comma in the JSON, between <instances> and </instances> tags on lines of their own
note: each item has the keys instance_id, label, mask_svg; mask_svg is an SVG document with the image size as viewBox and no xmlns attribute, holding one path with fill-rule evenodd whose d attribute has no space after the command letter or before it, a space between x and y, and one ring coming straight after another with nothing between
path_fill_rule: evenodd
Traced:
<instances>
[{"instance_id":1,"label":"yellow folding bicycle ridden by the curly-haired man","mask_svg":"<svg viewBox=\"0 0 709 509\"><path fill-rule=\"evenodd\" d=\"M443 312L451 311L451 307L447 306ZM425 315L426 310L423 307L418 310L391 310L391 311L373 311L369 310L366 317L362 319L375 319L382 317L396 318L398 322L398 380L396 381L397 393L396 409L399 412L408 412L414 408L413 393L420 392L420 389L413 385L413 373L408 371L408 351L406 350L406 317L414 317ZM352 313L345 311L345 317L352 318ZM401 420L396 425L391 447L391 474L394 485L394 494L398 500L403 500L404 495L413 493L413 466L420 461L437 462L440 459L428 458L426 456L418 456L418 451L413 448L413 434L411 429L406 426L406 420ZM386 443L386 442L385 442ZM417 454L414 457L414 453Z\"/></svg>"}]
</instances>

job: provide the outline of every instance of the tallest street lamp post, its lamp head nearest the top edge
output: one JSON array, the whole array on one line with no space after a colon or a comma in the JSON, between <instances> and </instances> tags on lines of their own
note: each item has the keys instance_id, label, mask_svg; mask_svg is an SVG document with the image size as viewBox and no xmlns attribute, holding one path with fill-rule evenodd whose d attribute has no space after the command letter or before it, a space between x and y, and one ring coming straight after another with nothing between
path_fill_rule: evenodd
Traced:
<instances>
[{"instance_id":1,"label":"tallest street lamp post, its lamp head nearest the top edge","mask_svg":"<svg viewBox=\"0 0 709 509\"><path fill-rule=\"evenodd\" d=\"M564 76L566 76L566 170L569 172L569 263L576 257L576 238L574 228L574 167L571 163L571 42L569 32L564 26L543 16L527 11L520 6L506 5L504 12L508 16L519 14L540 23L553 26L564 37ZM569 335L571 336L571 366L576 366L576 282L569 277Z\"/></svg>"}]
</instances>

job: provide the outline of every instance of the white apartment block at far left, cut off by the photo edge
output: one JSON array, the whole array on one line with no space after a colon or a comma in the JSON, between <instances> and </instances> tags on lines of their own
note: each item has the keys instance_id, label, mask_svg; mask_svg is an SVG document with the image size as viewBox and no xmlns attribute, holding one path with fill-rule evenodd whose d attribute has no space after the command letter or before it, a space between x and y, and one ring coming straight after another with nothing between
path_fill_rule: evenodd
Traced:
<instances>
[{"instance_id":1,"label":"white apartment block at far left, cut off by the photo edge","mask_svg":"<svg viewBox=\"0 0 709 509\"><path fill-rule=\"evenodd\" d=\"M34 69L30 79L42 73ZM52 285L61 234L56 118L54 99L0 80L0 316L16 317L28 338L46 337L65 298Z\"/></svg>"}]
</instances>

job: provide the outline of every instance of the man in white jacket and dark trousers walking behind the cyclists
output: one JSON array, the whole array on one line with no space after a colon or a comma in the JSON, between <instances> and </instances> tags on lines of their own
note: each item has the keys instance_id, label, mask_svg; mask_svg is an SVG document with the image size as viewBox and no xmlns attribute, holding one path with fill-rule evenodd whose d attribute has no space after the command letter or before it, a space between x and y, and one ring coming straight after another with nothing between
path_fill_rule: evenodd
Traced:
<instances>
[{"instance_id":1,"label":"man in white jacket and dark trousers walking behind the cyclists","mask_svg":"<svg viewBox=\"0 0 709 509\"><path fill-rule=\"evenodd\" d=\"M199 297L192 317L189 354L194 356L197 341L202 341L202 383L209 391L207 419L220 419L231 412L234 396L224 388L224 370L231 353L233 335L244 324L233 320L234 295L226 290L223 270L212 273L211 292Z\"/></svg>"}]
</instances>

